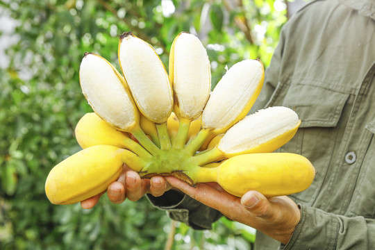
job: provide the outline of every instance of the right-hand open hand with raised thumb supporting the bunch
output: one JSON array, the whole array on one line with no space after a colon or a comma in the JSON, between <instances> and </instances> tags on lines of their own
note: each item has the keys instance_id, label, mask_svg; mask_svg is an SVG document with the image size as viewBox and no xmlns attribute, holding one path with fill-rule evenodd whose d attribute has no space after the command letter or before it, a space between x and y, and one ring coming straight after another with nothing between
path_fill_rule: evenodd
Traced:
<instances>
[{"instance_id":1,"label":"right-hand open hand with raised thumb supporting the bunch","mask_svg":"<svg viewBox=\"0 0 375 250\"><path fill-rule=\"evenodd\" d=\"M267 199L249 191L242 198L229 194L217 183L198 183L196 188L174 177L167 182L206 206L219 210L226 217L256 228L258 231L287 244L301 219L301 211L288 197Z\"/></svg>"}]
</instances>

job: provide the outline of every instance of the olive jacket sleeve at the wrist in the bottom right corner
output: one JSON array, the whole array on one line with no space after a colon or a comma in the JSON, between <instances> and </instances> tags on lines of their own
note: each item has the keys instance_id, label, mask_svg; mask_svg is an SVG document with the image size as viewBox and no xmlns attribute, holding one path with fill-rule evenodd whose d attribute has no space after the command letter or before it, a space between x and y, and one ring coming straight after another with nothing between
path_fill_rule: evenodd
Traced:
<instances>
[{"instance_id":1,"label":"olive jacket sleeve at the wrist in the bottom right corner","mask_svg":"<svg viewBox=\"0 0 375 250\"><path fill-rule=\"evenodd\" d=\"M344 217L317 208L300 206L301 220L283 250L293 249L372 249L375 220Z\"/></svg>"}]
</instances>

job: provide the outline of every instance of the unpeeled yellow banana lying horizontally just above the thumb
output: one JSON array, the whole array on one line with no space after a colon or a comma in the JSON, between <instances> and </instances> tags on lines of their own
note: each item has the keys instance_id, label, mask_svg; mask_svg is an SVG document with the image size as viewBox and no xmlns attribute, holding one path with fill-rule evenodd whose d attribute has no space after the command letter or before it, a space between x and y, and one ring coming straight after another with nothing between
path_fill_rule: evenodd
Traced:
<instances>
[{"instance_id":1,"label":"unpeeled yellow banana lying horizontally just above the thumb","mask_svg":"<svg viewBox=\"0 0 375 250\"><path fill-rule=\"evenodd\" d=\"M248 153L225 160L219 167L201 167L194 174L194 181L215 181L237 197L250 190L276 197L306 190L313 183L315 168L294 153Z\"/></svg>"}]
</instances>

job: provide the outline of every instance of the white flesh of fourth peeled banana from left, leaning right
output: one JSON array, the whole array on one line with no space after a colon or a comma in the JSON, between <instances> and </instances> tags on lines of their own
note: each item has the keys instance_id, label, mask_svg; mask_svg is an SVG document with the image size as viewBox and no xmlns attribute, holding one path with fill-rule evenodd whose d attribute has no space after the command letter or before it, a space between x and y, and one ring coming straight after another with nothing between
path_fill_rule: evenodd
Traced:
<instances>
[{"instance_id":1,"label":"white flesh of fourth peeled banana from left, leaning right","mask_svg":"<svg viewBox=\"0 0 375 250\"><path fill-rule=\"evenodd\" d=\"M233 65L210 95L202 113L202 127L225 128L233 124L263 84L263 75L263 64L258 60Z\"/></svg>"}]
</instances>

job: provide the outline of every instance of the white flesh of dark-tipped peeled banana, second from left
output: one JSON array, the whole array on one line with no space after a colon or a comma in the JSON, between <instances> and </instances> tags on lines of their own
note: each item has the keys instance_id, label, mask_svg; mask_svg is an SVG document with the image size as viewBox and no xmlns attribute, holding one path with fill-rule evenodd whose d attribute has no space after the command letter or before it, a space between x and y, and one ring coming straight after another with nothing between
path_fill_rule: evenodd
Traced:
<instances>
[{"instance_id":1,"label":"white flesh of dark-tipped peeled banana, second from left","mask_svg":"<svg viewBox=\"0 0 375 250\"><path fill-rule=\"evenodd\" d=\"M152 122L167 122L172 113L172 87L156 51L131 32L119 42L119 63L140 112Z\"/></svg>"}]
</instances>

